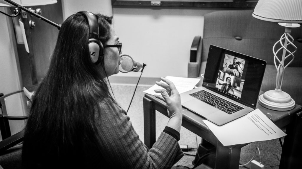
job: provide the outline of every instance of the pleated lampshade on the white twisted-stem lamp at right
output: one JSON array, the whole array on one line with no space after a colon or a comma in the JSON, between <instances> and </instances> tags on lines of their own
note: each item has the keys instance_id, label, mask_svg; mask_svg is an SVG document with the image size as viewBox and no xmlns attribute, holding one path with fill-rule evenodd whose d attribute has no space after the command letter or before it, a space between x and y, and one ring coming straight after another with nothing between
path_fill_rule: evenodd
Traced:
<instances>
[{"instance_id":1,"label":"pleated lampshade on the white twisted-stem lamp at right","mask_svg":"<svg viewBox=\"0 0 302 169\"><path fill-rule=\"evenodd\" d=\"M259 0L253 17L278 23L302 23L302 0Z\"/></svg>"}]
</instances>

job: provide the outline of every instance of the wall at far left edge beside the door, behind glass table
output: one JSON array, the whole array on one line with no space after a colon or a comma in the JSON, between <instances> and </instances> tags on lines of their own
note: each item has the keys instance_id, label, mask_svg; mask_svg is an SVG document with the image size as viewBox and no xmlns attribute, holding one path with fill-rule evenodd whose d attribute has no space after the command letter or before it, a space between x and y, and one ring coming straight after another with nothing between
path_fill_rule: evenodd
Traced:
<instances>
[{"instance_id":1,"label":"wall at far left edge beside the door, behind glass table","mask_svg":"<svg viewBox=\"0 0 302 169\"><path fill-rule=\"evenodd\" d=\"M1 11L7 12L7 8L0 7ZM8 94L21 90L19 60L16 52L16 42L14 28L10 18L0 14L0 93ZM19 94L14 94L5 100L8 115L24 115L23 98ZM24 122L10 122L11 133L15 134L24 126ZM2 137L0 137L2 140Z\"/></svg>"}]
</instances>

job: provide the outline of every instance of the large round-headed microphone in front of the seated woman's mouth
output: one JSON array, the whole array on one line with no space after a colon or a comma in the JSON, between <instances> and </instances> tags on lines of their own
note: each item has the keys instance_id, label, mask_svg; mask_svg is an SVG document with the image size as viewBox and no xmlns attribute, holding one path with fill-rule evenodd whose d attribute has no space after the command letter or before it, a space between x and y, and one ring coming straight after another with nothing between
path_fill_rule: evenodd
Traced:
<instances>
[{"instance_id":1,"label":"large round-headed microphone in front of the seated woman's mouth","mask_svg":"<svg viewBox=\"0 0 302 169\"><path fill-rule=\"evenodd\" d=\"M141 72L143 67L146 66L145 64L138 63L132 59L127 54L120 56L120 72L127 73L127 72Z\"/></svg>"}]
</instances>

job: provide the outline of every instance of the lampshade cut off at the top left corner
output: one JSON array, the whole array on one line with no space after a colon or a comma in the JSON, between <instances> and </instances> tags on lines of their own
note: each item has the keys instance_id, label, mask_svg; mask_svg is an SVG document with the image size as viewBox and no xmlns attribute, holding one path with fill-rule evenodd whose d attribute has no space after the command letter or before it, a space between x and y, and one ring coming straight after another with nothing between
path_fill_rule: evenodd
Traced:
<instances>
[{"instance_id":1,"label":"lampshade cut off at the top left corner","mask_svg":"<svg viewBox=\"0 0 302 169\"><path fill-rule=\"evenodd\" d=\"M38 6L38 5L49 5L49 4L55 4L56 0L11 0L17 4L20 4L21 6ZM5 2L3 0L0 0L0 7L12 7L8 2Z\"/></svg>"}]
</instances>

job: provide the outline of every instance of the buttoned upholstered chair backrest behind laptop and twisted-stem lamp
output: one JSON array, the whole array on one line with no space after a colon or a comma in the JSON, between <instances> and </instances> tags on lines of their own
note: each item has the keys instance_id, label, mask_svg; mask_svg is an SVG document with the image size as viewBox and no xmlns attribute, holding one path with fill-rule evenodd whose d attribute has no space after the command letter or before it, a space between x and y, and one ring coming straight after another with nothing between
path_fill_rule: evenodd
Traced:
<instances>
[{"instance_id":1,"label":"buttoned upholstered chair backrest behind laptop and twisted-stem lamp","mask_svg":"<svg viewBox=\"0 0 302 169\"><path fill-rule=\"evenodd\" d=\"M268 65L274 65L272 48L280 40L285 27L278 23L256 19L252 17L252 13L252 10L227 10L205 14L202 61L207 60L209 46L217 45L265 60ZM302 27L293 28L291 36L298 49L294 54L296 56L294 62L289 66L301 67Z\"/></svg>"}]
</instances>

